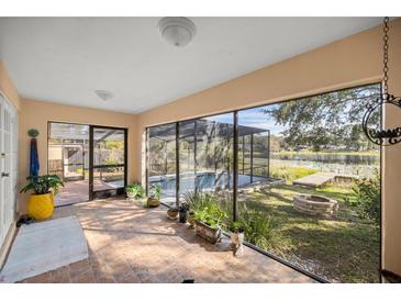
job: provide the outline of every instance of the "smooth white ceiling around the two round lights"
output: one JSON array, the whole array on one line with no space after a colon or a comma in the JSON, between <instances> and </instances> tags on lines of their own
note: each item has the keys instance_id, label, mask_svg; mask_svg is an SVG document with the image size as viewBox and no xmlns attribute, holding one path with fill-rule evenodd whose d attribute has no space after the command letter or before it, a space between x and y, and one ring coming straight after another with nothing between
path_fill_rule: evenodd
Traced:
<instances>
[{"instance_id":1,"label":"smooth white ceiling around the two round lights","mask_svg":"<svg viewBox=\"0 0 401 301\"><path fill-rule=\"evenodd\" d=\"M0 57L23 97L138 113L381 22L190 19L197 36L175 48L160 38L159 18L0 18Z\"/></svg>"}]
</instances>

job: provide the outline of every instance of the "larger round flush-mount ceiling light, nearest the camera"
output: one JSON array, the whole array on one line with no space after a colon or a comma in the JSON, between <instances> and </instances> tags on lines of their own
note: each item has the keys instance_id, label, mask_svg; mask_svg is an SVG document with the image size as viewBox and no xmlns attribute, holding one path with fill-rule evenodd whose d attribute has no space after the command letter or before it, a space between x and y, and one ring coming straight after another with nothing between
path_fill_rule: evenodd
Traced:
<instances>
[{"instance_id":1,"label":"larger round flush-mount ceiling light, nearest the camera","mask_svg":"<svg viewBox=\"0 0 401 301\"><path fill-rule=\"evenodd\" d=\"M157 24L161 37L170 45L185 47L197 33L193 22L183 16L166 16Z\"/></svg>"}]
</instances>

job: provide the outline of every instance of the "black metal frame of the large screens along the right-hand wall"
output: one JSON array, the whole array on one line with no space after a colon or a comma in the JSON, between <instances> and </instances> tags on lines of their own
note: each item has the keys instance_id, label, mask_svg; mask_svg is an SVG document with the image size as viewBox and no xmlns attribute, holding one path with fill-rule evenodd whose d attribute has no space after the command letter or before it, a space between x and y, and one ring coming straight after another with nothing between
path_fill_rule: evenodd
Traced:
<instances>
[{"instance_id":1,"label":"black metal frame of the large screens along the right-hand wall","mask_svg":"<svg viewBox=\"0 0 401 301\"><path fill-rule=\"evenodd\" d=\"M286 100L279 100L279 101L274 101L274 102L269 102L269 103L265 103L265 104L258 104L258 105L250 105L250 107L246 107L246 108L243 108L241 110L230 110L230 111L222 111L222 112L219 112L219 113L213 113L213 114L207 114L207 115L200 115L200 116L197 116L197 118L191 118L191 119L182 119L182 120L177 120L176 122L168 122L168 123L159 123L159 124L154 124L154 125L151 125L151 126L146 126L145 127L145 131L146 131L146 140L148 140L148 130L152 129L152 127L156 127L156 126L160 126L160 125L167 125L167 124L172 124L172 123L176 123L176 124L179 124L180 122L188 122L188 121L196 121L196 120L199 120L199 119L202 119L202 118L209 118L209 116L215 116L215 115L220 115L220 114L229 114L229 113L233 113L234 114L234 183L233 183L233 219L234 221L236 220L236 215L237 215L237 209L236 209L236 201L237 201L237 176L238 176L238 166L237 166L237 148L238 148L238 134L237 134L237 122L238 122L238 112L240 111L245 111L245 110L249 110L249 109L256 109L256 108L261 108L261 107L265 107L265 105L271 105L271 104L278 104L278 103L283 103L283 102L288 102L288 101L294 101L294 100L300 100L300 99L305 99L305 98L312 98L312 97L316 97L316 96L324 96L324 94L328 94L328 93L333 93L333 92L339 92L339 91L344 91L344 90L348 90L348 89L355 89L355 88L363 88L363 87L368 87L368 86L371 86L371 85L380 85L381 86L381 82L377 82L377 81L372 81L372 82L369 82L369 83L366 83L366 85L360 85L360 86L349 86L347 88L342 88L342 89L337 89L337 90L332 90L332 91L326 91L326 92L322 92L322 93L314 93L314 94L309 94L309 96L304 96L304 97L300 97L300 98L292 98L292 99L286 99ZM382 112L380 114L380 126L382 127ZM269 133L270 135L270 133ZM176 141L178 140L179 137L176 136ZM177 142L176 142L177 143ZM146 141L146 146L147 146L147 141ZM178 150L178 149L177 149ZM148 157L148 149L146 147L146 160L147 160L147 157ZM380 272L382 271L382 147L380 147ZM176 160L177 161L177 160ZM177 167L177 163L176 163L176 167ZM179 176L179 175L178 175ZM179 178L176 179L176 182L179 181ZM148 171L147 171L147 163L146 163L146 187L148 186ZM179 188L179 186L176 186L176 189L177 187ZM178 193L176 191L176 193ZM169 207L168 204L165 204L167 207ZM304 270L302 267L299 267L297 265L293 265L292 263L286 260L286 259L282 259L269 252L266 252L253 244L249 244L249 243L245 243L247 246L249 246L250 248L266 255L266 256L269 256L270 258L305 275L305 276L309 276L311 277L312 279L319 281L319 282L322 282L322 283L326 283L328 282L326 279L318 276L318 275L314 275L308 270ZM381 279L381 278L380 278Z\"/></svg>"}]
</instances>

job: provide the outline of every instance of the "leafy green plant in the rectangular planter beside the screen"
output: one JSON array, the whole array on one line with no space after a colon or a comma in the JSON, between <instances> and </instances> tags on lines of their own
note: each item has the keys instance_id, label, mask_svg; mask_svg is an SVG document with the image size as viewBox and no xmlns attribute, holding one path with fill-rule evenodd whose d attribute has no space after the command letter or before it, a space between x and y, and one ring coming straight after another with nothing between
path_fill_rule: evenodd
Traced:
<instances>
[{"instance_id":1,"label":"leafy green plant in the rectangular planter beside the screen","mask_svg":"<svg viewBox=\"0 0 401 301\"><path fill-rule=\"evenodd\" d=\"M198 236L205 238L208 242L215 244L221 239L221 221L227 218L227 214L214 202L194 211L194 225Z\"/></svg>"}]
</instances>

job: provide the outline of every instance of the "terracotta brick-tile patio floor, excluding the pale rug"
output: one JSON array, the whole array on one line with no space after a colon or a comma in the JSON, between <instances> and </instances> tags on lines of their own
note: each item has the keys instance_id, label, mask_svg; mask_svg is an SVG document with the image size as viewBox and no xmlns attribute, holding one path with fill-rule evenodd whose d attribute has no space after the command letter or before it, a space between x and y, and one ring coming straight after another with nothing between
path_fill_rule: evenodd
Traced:
<instances>
[{"instance_id":1,"label":"terracotta brick-tile patio floor, excluding the pale rug","mask_svg":"<svg viewBox=\"0 0 401 301\"><path fill-rule=\"evenodd\" d=\"M108 199L58 208L54 219L73 214L85 231L89 258L23 282L314 282L247 247L234 257L229 238L211 245L169 221L163 205L143 209Z\"/></svg>"}]
</instances>

